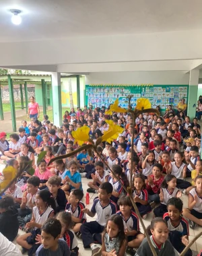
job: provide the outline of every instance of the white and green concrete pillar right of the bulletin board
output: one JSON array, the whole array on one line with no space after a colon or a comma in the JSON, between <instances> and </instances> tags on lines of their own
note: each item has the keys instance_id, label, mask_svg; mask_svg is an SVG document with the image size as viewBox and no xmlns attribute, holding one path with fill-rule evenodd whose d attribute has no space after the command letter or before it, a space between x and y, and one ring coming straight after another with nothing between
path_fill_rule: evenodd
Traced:
<instances>
[{"instance_id":1,"label":"white and green concrete pillar right of the bulletin board","mask_svg":"<svg viewBox=\"0 0 202 256\"><path fill-rule=\"evenodd\" d=\"M196 107L193 107L194 104L197 104L197 94L198 94L198 84L199 84L199 70L194 69L190 71L189 76L189 97L187 103L187 115L190 117L191 121L196 115Z\"/></svg>"}]
</instances>

